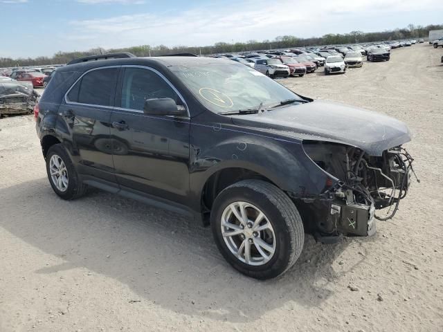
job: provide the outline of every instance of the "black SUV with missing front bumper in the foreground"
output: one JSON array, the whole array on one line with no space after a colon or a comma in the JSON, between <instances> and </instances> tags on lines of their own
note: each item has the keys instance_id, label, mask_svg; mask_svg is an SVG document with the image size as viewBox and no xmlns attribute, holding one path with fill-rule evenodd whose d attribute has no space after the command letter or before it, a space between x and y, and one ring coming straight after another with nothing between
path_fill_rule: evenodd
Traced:
<instances>
[{"instance_id":1,"label":"black SUV with missing front bumper in the foreground","mask_svg":"<svg viewBox=\"0 0 443 332\"><path fill-rule=\"evenodd\" d=\"M402 122L302 97L229 59L76 59L35 113L62 199L91 186L188 214L257 279L290 268L305 232L323 243L373 234L410 183Z\"/></svg>"}]
</instances>

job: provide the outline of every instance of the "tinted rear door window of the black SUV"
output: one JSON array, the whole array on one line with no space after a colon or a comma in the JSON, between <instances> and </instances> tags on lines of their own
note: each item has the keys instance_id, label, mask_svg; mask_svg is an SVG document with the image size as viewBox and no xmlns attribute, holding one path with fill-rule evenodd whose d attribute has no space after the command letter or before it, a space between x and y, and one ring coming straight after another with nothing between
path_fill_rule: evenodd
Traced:
<instances>
[{"instance_id":1,"label":"tinted rear door window of the black SUV","mask_svg":"<svg viewBox=\"0 0 443 332\"><path fill-rule=\"evenodd\" d=\"M91 71L69 91L71 102L112 106L119 68L103 68Z\"/></svg>"}]
</instances>

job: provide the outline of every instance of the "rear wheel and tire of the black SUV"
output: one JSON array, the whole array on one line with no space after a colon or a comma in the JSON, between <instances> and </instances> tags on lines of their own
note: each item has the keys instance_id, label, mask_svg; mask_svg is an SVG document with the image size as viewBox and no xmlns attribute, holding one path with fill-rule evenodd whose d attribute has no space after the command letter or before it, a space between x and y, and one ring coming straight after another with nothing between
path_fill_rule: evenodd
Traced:
<instances>
[{"instance_id":1,"label":"rear wheel and tire of the black SUV","mask_svg":"<svg viewBox=\"0 0 443 332\"><path fill-rule=\"evenodd\" d=\"M55 194L62 199L77 199L86 192L63 145L55 144L46 154L46 173Z\"/></svg>"}]
</instances>

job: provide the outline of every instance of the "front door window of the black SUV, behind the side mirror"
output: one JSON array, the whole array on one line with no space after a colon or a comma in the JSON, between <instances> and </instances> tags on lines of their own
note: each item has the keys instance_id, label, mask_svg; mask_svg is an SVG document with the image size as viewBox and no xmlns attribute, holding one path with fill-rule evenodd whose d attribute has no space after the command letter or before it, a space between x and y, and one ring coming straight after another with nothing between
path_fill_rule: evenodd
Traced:
<instances>
[{"instance_id":1,"label":"front door window of the black SUV, behind the side mirror","mask_svg":"<svg viewBox=\"0 0 443 332\"><path fill-rule=\"evenodd\" d=\"M145 100L154 98L172 98L176 104L181 104L179 95L154 71L125 68L121 107L143 111Z\"/></svg>"}]
</instances>

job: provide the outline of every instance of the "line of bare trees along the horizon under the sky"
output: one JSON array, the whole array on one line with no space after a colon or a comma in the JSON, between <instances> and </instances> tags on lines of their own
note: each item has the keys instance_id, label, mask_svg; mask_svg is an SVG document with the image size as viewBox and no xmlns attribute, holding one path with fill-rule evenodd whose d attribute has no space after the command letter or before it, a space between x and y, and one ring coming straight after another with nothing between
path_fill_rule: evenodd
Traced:
<instances>
[{"instance_id":1,"label":"line of bare trees along the horizon under the sky","mask_svg":"<svg viewBox=\"0 0 443 332\"><path fill-rule=\"evenodd\" d=\"M0 67L14 66L36 66L48 64L66 64L72 59L114 52L130 52L138 57L167 55L171 53L193 53L197 55L210 55L217 53L244 52L249 50L269 50L275 48L298 48L318 45L354 44L370 43L385 40L399 40L408 38L428 37L429 30L443 29L443 24L430 24L428 26L415 26L409 24L406 28L395 30L385 30L377 33L363 33L362 31L352 31L345 34L329 33L323 37L298 38L292 35L278 36L273 40L248 40L247 42L226 43L218 42L211 46L174 46L165 45L132 46L127 48L92 48L91 50L79 52L59 51L53 57L18 58L0 57Z\"/></svg>"}]
</instances>

